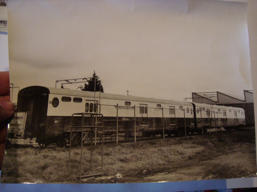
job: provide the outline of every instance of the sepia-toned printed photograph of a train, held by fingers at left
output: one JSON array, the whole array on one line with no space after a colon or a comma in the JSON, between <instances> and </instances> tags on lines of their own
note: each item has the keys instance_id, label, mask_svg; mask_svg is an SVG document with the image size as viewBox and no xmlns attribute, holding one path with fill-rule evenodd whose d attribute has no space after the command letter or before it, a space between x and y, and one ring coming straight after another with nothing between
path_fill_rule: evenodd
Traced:
<instances>
[{"instance_id":1,"label":"sepia-toned printed photograph of a train, held by fingers at left","mask_svg":"<svg viewBox=\"0 0 257 192\"><path fill-rule=\"evenodd\" d=\"M256 175L247 4L8 1L2 183Z\"/></svg>"}]
</instances>

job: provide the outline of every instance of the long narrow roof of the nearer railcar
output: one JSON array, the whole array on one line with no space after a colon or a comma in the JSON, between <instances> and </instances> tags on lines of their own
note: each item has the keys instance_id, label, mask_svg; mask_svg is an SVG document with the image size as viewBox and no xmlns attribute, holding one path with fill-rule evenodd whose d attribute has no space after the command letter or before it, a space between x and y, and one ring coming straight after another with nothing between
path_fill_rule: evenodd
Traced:
<instances>
[{"instance_id":1,"label":"long narrow roof of the nearer railcar","mask_svg":"<svg viewBox=\"0 0 257 192\"><path fill-rule=\"evenodd\" d=\"M89 91L81 91L81 90L70 90L70 89L60 89L60 88L48 88L50 94L58 94L58 95L69 95L69 96L77 96L77 97L94 97L94 92ZM100 92L96 92L96 98L100 97ZM109 94L109 93L101 93L101 98L105 99L118 99L118 100L126 100L126 101L141 101L141 102L151 102L151 103L162 103L162 104L176 104L176 105L188 105L192 106L189 102L182 101L173 101L173 100L165 100L165 99L155 99L155 98L145 98L145 97L135 97L131 95L117 95L117 94Z\"/></svg>"}]
</instances>

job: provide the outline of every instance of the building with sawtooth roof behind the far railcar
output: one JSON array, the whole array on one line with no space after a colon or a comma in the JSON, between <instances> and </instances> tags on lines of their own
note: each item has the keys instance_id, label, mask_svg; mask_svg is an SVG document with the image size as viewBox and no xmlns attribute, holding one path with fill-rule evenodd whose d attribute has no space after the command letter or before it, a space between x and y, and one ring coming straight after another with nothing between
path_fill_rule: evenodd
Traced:
<instances>
[{"instance_id":1,"label":"building with sawtooth roof behind the far railcar","mask_svg":"<svg viewBox=\"0 0 257 192\"><path fill-rule=\"evenodd\" d=\"M253 93L244 90L244 97L221 92L192 93L192 100L196 103L234 106L245 110L246 125L254 126Z\"/></svg>"}]
</instances>

